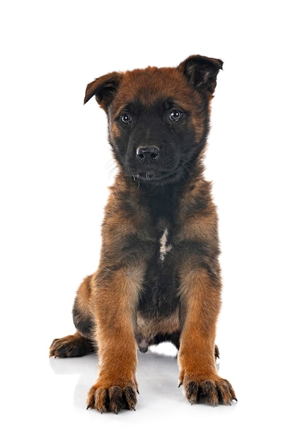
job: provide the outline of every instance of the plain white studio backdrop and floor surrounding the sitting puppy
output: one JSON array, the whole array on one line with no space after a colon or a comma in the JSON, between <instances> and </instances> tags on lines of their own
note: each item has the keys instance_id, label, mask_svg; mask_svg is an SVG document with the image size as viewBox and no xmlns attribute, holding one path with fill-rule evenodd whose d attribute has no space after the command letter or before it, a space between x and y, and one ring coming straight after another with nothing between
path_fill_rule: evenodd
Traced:
<instances>
[{"instance_id":1,"label":"plain white studio backdrop and floor surrounding the sitting puppy","mask_svg":"<svg viewBox=\"0 0 302 443\"><path fill-rule=\"evenodd\" d=\"M298 1L3 1L1 425L5 442L301 441L301 8ZM219 372L238 404L190 406L173 357L139 356L136 413L86 411L97 360L49 359L95 270L115 168L86 84L223 59L207 178L219 207Z\"/></svg>"}]
</instances>

